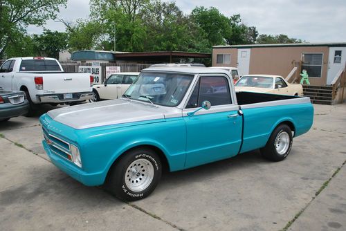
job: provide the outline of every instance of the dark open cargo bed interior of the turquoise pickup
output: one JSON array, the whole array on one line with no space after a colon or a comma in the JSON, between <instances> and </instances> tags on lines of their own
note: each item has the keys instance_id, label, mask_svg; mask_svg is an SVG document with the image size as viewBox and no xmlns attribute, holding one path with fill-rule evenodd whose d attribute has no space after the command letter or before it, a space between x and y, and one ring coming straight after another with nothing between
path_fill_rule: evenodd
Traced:
<instances>
[{"instance_id":1,"label":"dark open cargo bed interior of the turquoise pickup","mask_svg":"<svg viewBox=\"0 0 346 231\"><path fill-rule=\"evenodd\" d=\"M277 100L290 100L301 98L299 96L293 95L276 95L268 93L257 93L257 92L248 92L248 91L239 91L237 94L237 102L239 105L246 104L257 104L260 102L271 102Z\"/></svg>"}]
</instances>

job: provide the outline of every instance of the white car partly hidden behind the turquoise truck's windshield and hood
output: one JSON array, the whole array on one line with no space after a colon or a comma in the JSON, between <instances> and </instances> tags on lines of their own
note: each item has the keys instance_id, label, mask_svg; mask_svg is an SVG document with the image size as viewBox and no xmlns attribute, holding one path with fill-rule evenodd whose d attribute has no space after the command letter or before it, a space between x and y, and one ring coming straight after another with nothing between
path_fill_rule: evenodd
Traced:
<instances>
[{"instance_id":1,"label":"white car partly hidden behind the turquoise truck's windshield and hood","mask_svg":"<svg viewBox=\"0 0 346 231\"><path fill-rule=\"evenodd\" d=\"M104 84L93 85L94 98L90 102L121 98L138 75L139 72L121 72L110 75Z\"/></svg>"}]
</instances>

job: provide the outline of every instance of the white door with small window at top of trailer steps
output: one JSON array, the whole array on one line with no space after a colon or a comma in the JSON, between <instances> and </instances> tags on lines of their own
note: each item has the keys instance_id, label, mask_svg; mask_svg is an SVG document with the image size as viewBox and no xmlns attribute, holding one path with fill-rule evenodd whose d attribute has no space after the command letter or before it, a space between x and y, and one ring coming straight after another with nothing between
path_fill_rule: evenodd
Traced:
<instances>
[{"instance_id":1,"label":"white door with small window at top of trailer steps","mask_svg":"<svg viewBox=\"0 0 346 231\"><path fill-rule=\"evenodd\" d=\"M331 84L341 68L345 68L345 47L330 47L327 71L327 84Z\"/></svg>"}]
</instances>

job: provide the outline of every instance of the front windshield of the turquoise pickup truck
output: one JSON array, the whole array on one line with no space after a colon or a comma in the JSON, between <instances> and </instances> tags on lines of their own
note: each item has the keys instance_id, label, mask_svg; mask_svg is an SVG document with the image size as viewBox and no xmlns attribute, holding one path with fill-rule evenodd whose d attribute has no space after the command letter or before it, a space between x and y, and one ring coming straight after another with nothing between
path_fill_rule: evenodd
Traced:
<instances>
[{"instance_id":1,"label":"front windshield of the turquoise pickup truck","mask_svg":"<svg viewBox=\"0 0 346 231\"><path fill-rule=\"evenodd\" d=\"M141 73L124 96L133 100L176 107L188 91L194 75Z\"/></svg>"}]
</instances>

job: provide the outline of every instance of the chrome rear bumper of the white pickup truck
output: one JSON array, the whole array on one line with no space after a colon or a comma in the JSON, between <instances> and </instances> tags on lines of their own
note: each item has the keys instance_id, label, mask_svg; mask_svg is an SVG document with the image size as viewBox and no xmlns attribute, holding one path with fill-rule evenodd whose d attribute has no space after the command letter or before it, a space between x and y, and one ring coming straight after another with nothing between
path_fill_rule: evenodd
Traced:
<instances>
[{"instance_id":1,"label":"chrome rear bumper of the white pickup truck","mask_svg":"<svg viewBox=\"0 0 346 231\"><path fill-rule=\"evenodd\" d=\"M64 99L64 94L49 94L49 95L36 95L36 98L41 103L62 103L62 102L78 102L84 100L91 100L93 92L72 93L71 99Z\"/></svg>"}]
</instances>

